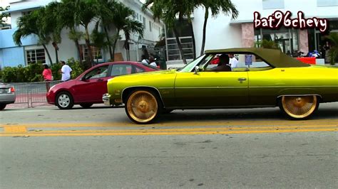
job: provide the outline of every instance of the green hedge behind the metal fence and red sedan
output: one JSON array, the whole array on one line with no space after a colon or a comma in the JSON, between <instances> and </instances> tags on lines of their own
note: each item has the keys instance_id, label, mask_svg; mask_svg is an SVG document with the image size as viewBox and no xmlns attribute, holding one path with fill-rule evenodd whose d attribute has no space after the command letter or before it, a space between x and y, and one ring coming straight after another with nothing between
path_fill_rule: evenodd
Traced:
<instances>
[{"instance_id":1,"label":"green hedge behind the metal fence and red sedan","mask_svg":"<svg viewBox=\"0 0 338 189\"><path fill-rule=\"evenodd\" d=\"M73 70L71 78L76 78L86 70L86 64L81 64L73 58L67 60L67 64ZM54 80L61 80L61 64L53 64L50 66ZM0 79L3 82L41 82L43 81L43 65L42 63L32 63L28 66L19 65L18 67L5 67L0 70Z\"/></svg>"}]
</instances>

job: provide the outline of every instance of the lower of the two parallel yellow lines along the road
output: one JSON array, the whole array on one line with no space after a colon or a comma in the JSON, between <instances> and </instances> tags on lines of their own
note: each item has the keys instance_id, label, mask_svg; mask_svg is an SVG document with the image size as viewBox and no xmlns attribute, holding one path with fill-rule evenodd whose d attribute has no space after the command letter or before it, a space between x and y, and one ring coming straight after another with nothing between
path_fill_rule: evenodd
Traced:
<instances>
[{"instance_id":1,"label":"lower of the two parallel yellow lines along the road","mask_svg":"<svg viewBox=\"0 0 338 189\"><path fill-rule=\"evenodd\" d=\"M145 136L145 135L193 135L193 134L262 134L262 133L297 133L297 132L318 132L337 131L337 129L282 129L263 131L186 131L186 132L105 132L105 133L30 133L28 136ZM25 136L25 134L0 134L0 136Z\"/></svg>"}]
</instances>

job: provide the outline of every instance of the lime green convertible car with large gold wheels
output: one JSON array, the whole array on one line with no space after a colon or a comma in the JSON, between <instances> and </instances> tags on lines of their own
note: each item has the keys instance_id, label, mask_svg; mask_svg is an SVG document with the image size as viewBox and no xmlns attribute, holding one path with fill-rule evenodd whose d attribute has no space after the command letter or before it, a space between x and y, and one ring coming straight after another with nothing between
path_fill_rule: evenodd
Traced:
<instances>
[{"instance_id":1,"label":"lime green convertible car with large gold wheels","mask_svg":"<svg viewBox=\"0 0 338 189\"><path fill-rule=\"evenodd\" d=\"M222 54L238 55L237 68L212 71ZM301 63L264 48L207 50L179 70L119 76L107 85L103 102L124 103L126 114L138 124L173 109L279 106L291 119L307 119L319 102L338 101L337 68Z\"/></svg>"}]
</instances>

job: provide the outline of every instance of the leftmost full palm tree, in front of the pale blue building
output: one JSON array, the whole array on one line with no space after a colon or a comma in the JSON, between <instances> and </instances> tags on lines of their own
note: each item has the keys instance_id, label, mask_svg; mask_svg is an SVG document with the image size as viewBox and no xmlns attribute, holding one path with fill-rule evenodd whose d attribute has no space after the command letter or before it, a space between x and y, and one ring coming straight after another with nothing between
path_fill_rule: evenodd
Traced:
<instances>
[{"instance_id":1,"label":"leftmost full palm tree, in front of the pale blue building","mask_svg":"<svg viewBox=\"0 0 338 189\"><path fill-rule=\"evenodd\" d=\"M46 16L43 13L44 8L41 9L33 11L24 16L21 16L18 19L17 23L18 29L13 34L13 40L14 43L16 43L16 45L21 45L21 38L26 38L27 36L35 34L39 38L39 44L42 45L44 50L46 51L49 62L53 63L51 60L51 55L49 54L48 49L46 48L46 44L48 44L49 41L51 41L51 38L48 34L46 35L46 31L43 31L42 27L38 25L41 22L39 21L39 18Z\"/></svg>"}]
</instances>

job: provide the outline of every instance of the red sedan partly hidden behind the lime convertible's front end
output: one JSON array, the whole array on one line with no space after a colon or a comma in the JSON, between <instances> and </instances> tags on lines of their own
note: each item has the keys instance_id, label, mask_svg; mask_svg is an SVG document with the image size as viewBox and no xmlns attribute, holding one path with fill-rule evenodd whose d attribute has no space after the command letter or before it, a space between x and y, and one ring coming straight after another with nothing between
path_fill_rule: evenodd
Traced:
<instances>
[{"instance_id":1,"label":"red sedan partly hidden behind the lime convertible's front end","mask_svg":"<svg viewBox=\"0 0 338 189\"><path fill-rule=\"evenodd\" d=\"M107 81L118 75L157 71L150 65L136 62L103 63L90 68L75 80L54 85L47 93L47 102L59 109L71 109L74 104L88 108L103 103L102 95L107 93Z\"/></svg>"}]
</instances>

